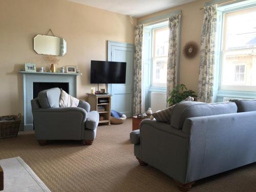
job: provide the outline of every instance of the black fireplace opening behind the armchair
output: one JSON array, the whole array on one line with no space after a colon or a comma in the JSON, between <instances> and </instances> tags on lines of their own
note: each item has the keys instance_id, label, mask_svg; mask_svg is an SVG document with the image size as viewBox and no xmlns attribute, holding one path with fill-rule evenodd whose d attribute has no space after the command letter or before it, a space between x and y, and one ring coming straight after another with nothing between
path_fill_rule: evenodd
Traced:
<instances>
[{"instance_id":1,"label":"black fireplace opening behind the armchair","mask_svg":"<svg viewBox=\"0 0 256 192\"><path fill-rule=\"evenodd\" d=\"M37 97L40 91L51 88L61 88L62 90L69 93L68 82L33 82L33 99Z\"/></svg>"}]
</instances>

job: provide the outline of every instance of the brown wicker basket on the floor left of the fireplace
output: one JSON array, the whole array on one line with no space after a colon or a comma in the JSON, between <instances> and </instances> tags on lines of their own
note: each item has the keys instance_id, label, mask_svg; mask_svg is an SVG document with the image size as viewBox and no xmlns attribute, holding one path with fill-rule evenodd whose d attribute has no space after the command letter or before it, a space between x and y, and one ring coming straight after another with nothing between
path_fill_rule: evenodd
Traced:
<instances>
[{"instance_id":1,"label":"brown wicker basket on the floor left of the fireplace","mask_svg":"<svg viewBox=\"0 0 256 192\"><path fill-rule=\"evenodd\" d=\"M9 115L3 117L13 117L14 120L0 121L0 139L17 137L20 125L20 114L18 114L18 116Z\"/></svg>"}]
</instances>

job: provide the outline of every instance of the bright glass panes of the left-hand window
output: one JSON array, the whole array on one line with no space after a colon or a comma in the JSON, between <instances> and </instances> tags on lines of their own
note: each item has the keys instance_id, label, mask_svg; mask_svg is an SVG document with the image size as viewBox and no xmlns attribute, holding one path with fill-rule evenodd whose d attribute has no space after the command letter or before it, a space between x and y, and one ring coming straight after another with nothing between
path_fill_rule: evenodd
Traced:
<instances>
[{"instance_id":1,"label":"bright glass panes of the left-hand window","mask_svg":"<svg viewBox=\"0 0 256 192\"><path fill-rule=\"evenodd\" d=\"M168 27L153 30L152 86L166 87L168 59Z\"/></svg>"}]
</instances>

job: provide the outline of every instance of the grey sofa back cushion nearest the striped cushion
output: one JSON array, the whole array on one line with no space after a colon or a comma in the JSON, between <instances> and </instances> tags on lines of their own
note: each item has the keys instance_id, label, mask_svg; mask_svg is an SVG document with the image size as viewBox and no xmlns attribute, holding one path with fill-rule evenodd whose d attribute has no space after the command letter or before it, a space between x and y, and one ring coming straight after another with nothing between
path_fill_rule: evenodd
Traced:
<instances>
[{"instance_id":1,"label":"grey sofa back cushion nearest the striped cushion","mask_svg":"<svg viewBox=\"0 0 256 192\"><path fill-rule=\"evenodd\" d=\"M182 129L186 118L229 113L237 113L236 103L203 103L195 101L184 101L175 105L170 123L176 129Z\"/></svg>"}]
</instances>

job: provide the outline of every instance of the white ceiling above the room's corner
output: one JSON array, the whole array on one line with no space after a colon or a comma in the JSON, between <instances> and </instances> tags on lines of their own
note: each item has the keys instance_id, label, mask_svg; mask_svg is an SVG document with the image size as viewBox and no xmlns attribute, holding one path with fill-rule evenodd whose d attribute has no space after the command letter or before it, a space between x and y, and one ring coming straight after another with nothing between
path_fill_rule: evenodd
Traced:
<instances>
[{"instance_id":1,"label":"white ceiling above the room's corner","mask_svg":"<svg viewBox=\"0 0 256 192\"><path fill-rule=\"evenodd\" d=\"M133 17L176 7L196 0L68 0Z\"/></svg>"}]
</instances>

